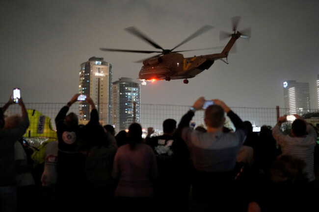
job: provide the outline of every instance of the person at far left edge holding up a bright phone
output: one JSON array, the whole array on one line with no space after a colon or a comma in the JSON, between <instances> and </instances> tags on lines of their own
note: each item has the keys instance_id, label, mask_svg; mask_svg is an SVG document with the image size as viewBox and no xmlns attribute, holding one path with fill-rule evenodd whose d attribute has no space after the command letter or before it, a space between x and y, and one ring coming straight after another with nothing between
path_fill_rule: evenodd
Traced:
<instances>
[{"instance_id":1,"label":"person at far left edge holding up a bright phone","mask_svg":"<svg viewBox=\"0 0 319 212\"><path fill-rule=\"evenodd\" d=\"M15 103L21 107L21 120L12 128L5 129L4 112L13 104L13 98L0 108L0 211L15 212L17 209L16 167L14 145L29 126L27 109L19 98Z\"/></svg>"}]
</instances>

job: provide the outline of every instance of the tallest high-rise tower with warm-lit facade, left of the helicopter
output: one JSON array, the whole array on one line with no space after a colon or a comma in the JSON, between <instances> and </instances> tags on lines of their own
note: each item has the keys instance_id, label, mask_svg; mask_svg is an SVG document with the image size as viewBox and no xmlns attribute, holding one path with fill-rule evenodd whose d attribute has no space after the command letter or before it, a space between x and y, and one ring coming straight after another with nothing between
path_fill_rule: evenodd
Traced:
<instances>
[{"instance_id":1,"label":"tallest high-rise tower with warm-lit facade, left of the helicopter","mask_svg":"<svg viewBox=\"0 0 319 212\"><path fill-rule=\"evenodd\" d=\"M99 112L100 122L111 122L111 94L112 94L112 65L104 61L103 57L91 57L81 63L80 94L92 98ZM85 101L80 101L79 119L85 123L90 120L90 106Z\"/></svg>"}]
</instances>

